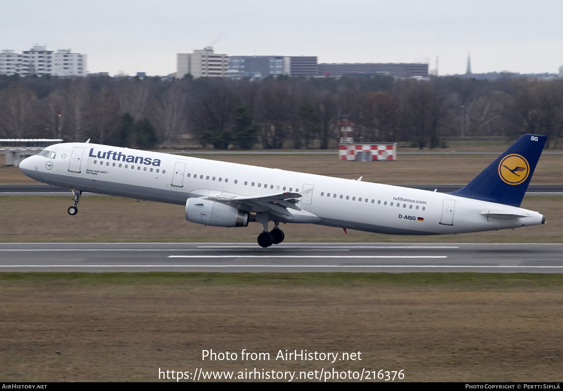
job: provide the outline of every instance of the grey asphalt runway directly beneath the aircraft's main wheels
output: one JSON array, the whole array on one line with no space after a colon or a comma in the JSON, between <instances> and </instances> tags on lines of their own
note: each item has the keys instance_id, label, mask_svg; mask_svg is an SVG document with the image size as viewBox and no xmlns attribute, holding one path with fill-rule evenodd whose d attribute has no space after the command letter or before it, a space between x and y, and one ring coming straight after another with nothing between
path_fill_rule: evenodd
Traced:
<instances>
[{"instance_id":1,"label":"grey asphalt runway directly beneath the aircraft's main wheels","mask_svg":"<svg viewBox=\"0 0 563 391\"><path fill-rule=\"evenodd\" d=\"M2 272L562 273L563 244L6 243Z\"/></svg>"}]
</instances>

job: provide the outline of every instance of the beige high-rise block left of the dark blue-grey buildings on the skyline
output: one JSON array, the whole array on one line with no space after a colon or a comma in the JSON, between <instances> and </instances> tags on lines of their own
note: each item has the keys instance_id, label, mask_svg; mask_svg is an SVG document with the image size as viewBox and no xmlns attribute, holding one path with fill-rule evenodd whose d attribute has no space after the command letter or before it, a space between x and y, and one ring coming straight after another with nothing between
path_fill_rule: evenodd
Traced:
<instances>
[{"instance_id":1,"label":"beige high-rise block left of the dark blue-grey buildings on the skyline","mask_svg":"<svg viewBox=\"0 0 563 391\"><path fill-rule=\"evenodd\" d=\"M191 74L194 78L226 77L228 61L226 54L213 51L211 46L193 53L177 53L177 78Z\"/></svg>"}]
</instances>

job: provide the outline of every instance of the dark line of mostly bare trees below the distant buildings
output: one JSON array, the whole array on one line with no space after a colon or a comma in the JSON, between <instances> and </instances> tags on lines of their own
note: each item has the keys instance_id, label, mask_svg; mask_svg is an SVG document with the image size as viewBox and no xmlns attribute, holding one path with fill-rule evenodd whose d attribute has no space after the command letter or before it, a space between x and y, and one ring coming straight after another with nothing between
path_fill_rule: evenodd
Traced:
<instances>
[{"instance_id":1,"label":"dark line of mostly bare trees below the distant buildings","mask_svg":"<svg viewBox=\"0 0 563 391\"><path fill-rule=\"evenodd\" d=\"M60 114L60 115L59 115ZM358 142L444 146L444 137L563 137L563 80L82 78L0 75L0 137L139 148L327 149L341 115Z\"/></svg>"}]
</instances>

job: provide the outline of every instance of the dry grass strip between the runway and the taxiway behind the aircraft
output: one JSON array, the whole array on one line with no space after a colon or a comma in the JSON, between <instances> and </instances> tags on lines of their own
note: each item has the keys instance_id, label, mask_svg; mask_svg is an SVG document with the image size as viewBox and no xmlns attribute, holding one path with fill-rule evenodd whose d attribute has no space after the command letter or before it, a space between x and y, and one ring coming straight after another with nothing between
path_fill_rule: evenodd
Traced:
<instances>
[{"instance_id":1,"label":"dry grass strip between the runway and the taxiway behind the aircraft","mask_svg":"<svg viewBox=\"0 0 563 391\"><path fill-rule=\"evenodd\" d=\"M282 224L286 242L563 242L563 197L524 197L522 208L546 214L547 224L517 230L460 235L397 236L316 226ZM1 242L174 241L255 242L259 223L246 228L202 226L186 221L185 208L108 196L82 197L79 213L66 209L71 197L0 197Z\"/></svg>"}]
</instances>

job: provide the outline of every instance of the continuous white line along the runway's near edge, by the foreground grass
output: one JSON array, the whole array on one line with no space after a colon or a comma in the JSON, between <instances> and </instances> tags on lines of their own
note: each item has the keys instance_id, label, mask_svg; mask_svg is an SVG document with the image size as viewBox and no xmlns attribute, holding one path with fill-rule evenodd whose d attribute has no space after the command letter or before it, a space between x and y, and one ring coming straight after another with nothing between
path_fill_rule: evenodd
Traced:
<instances>
[{"instance_id":1,"label":"continuous white line along the runway's near edge, by the foreground grass","mask_svg":"<svg viewBox=\"0 0 563 391\"><path fill-rule=\"evenodd\" d=\"M0 267L373 267L373 268L563 268L563 266L453 266L453 265L0 265Z\"/></svg>"}]
</instances>

